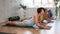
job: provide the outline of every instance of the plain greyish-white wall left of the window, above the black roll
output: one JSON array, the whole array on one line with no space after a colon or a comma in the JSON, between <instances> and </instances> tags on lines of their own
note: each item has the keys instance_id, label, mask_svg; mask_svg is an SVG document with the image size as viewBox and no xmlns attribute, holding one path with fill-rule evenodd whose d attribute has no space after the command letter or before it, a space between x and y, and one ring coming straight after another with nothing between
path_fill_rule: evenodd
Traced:
<instances>
[{"instance_id":1,"label":"plain greyish-white wall left of the window, above the black roll","mask_svg":"<svg viewBox=\"0 0 60 34\"><path fill-rule=\"evenodd\" d=\"M17 15L20 0L0 0L0 22Z\"/></svg>"}]
</instances>

